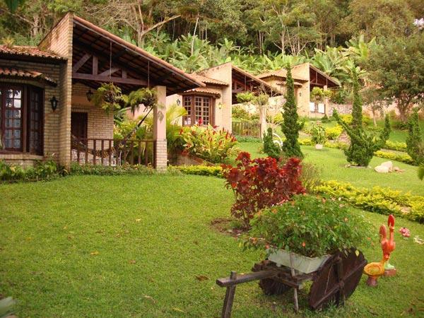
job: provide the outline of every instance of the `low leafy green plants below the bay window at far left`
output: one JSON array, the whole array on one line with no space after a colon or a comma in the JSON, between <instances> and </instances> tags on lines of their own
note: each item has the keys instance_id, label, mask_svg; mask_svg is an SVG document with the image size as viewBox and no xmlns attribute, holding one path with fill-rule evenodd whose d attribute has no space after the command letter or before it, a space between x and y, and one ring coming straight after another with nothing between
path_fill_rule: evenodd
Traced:
<instances>
[{"instance_id":1,"label":"low leafy green plants below the bay window at far left","mask_svg":"<svg viewBox=\"0 0 424 318\"><path fill-rule=\"evenodd\" d=\"M64 173L53 160L37 161L33 167L22 167L0 161L0 182L40 181L59 177Z\"/></svg>"}]
</instances>

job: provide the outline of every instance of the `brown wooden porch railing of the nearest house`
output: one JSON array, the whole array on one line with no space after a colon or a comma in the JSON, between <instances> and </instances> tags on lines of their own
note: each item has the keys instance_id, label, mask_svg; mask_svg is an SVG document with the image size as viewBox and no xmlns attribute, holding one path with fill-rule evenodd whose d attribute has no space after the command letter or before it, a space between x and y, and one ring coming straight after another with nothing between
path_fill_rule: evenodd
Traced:
<instances>
[{"instance_id":1,"label":"brown wooden porch railing of the nearest house","mask_svg":"<svg viewBox=\"0 0 424 318\"><path fill-rule=\"evenodd\" d=\"M155 167L154 140L71 139L71 161L81 165L151 165Z\"/></svg>"}]
</instances>

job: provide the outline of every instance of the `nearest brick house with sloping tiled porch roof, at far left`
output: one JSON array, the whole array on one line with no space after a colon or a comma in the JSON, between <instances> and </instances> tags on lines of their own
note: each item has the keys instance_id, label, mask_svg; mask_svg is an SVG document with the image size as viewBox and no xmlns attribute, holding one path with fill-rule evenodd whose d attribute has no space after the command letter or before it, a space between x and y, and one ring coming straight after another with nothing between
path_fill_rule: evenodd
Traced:
<instances>
[{"instance_id":1,"label":"nearest brick house with sloping tiled porch roof, at far left","mask_svg":"<svg viewBox=\"0 0 424 318\"><path fill-rule=\"evenodd\" d=\"M67 13L37 47L0 46L0 160L32 165L52 157L69 167L76 137L85 146L78 149L78 161L81 153L86 163L110 165L115 155L113 116L89 100L91 90L110 82L123 93L155 88L160 105L167 95L204 86L198 78ZM153 117L153 164L163 169L165 112L155 107Z\"/></svg>"}]
</instances>

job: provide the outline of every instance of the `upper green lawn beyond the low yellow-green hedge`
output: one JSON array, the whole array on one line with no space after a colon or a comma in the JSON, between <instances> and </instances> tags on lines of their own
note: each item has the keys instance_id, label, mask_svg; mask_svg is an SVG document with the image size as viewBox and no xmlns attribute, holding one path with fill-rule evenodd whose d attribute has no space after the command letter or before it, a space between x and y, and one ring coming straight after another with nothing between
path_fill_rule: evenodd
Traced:
<instances>
[{"instance_id":1,"label":"upper green lawn beyond the low yellow-green hedge","mask_svg":"<svg viewBox=\"0 0 424 318\"><path fill-rule=\"evenodd\" d=\"M252 158L264 156L258 150L261 143L239 143L238 148L252 154ZM324 180L338 180L349 182L358 187L389 187L399 189L411 194L424 195L424 182L417 177L418 168L406 163L394 161L393 164L404 169L404 172L393 172L389 174L377 173L374 169L347 168L346 157L340 149L324 148L322 151L316 150L313 146L301 146L305 154L305 162L313 163L321 170L321 177ZM375 167L387 159L374 157L371 160L371 167Z\"/></svg>"}]
</instances>

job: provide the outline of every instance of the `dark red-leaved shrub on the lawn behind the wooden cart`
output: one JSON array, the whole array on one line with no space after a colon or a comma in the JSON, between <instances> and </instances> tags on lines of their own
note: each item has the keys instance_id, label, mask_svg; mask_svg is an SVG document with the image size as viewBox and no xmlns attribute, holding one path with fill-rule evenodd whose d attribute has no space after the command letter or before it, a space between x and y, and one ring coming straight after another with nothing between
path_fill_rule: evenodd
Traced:
<instances>
[{"instance_id":1,"label":"dark red-leaved shrub on the lawn behind the wooden cart","mask_svg":"<svg viewBox=\"0 0 424 318\"><path fill-rule=\"evenodd\" d=\"M274 158L250 159L250 154L242 152L237 158L237 166L223 165L225 186L235 194L235 204L231 214L241 218L245 226L262 208L269 208L288 201L295 194L305 193L300 182L302 166L300 159L290 158L283 166Z\"/></svg>"}]
</instances>

